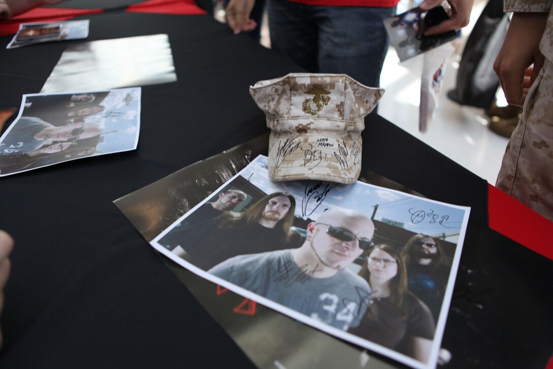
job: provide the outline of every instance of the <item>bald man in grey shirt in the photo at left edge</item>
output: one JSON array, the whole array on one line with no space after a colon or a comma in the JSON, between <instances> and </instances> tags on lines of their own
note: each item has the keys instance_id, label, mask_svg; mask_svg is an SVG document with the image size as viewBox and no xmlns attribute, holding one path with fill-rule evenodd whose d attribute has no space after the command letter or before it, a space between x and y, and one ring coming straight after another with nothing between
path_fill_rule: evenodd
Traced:
<instances>
[{"instance_id":1,"label":"bald man in grey shirt in the photo at left edge","mask_svg":"<svg viewBox=\"0 0 553 369\"><path fill-rule=\"evenodd\" d=\"M15 122L6 138L0 142L0 152L29 153L43 147L48 141L69 141L100 135L102 121L73 122L54 126L39 118L22 116Z\"/></svg>"}]
</instances>

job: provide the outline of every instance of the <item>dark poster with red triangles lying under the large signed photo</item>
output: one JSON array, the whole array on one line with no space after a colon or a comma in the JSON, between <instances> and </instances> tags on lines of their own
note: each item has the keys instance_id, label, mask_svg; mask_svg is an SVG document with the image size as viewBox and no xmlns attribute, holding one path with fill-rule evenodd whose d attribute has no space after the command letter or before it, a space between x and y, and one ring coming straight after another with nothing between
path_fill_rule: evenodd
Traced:
<instances>
[{"instance_id":1,"label":"dark poster with red triangles lying under the large signed photo","mask_svg":"<svg viewBox=\"0 0 553 369\"><path fill-rule=\"evenodd\" d=\"M268 151L269 134L182 168L123 196L114 204L150 242L205 198L217 198L228 182ZM421 194L366 168L359 180ZM233 209L234 210L234 209ZM302 324L162 259L258 368L392 369L397 362Z\"/></svg>"}]
</instances>

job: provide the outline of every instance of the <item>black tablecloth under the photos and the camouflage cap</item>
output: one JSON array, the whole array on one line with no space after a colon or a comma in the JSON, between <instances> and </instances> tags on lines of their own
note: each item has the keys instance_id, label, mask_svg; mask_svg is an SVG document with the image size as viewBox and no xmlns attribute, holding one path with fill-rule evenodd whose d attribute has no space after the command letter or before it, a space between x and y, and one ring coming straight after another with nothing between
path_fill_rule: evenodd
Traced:
<instances>
[{"instance_id":1,"label":"black tablecloth under the photos and the camouflage cap","mask_svg":"<svg viewBox=\"0 0 553 369\"><path fill-rule=\"evenodd\" d=\"M302 70L209 16L89 18L87 40L169 34L178 82L143 87L137 150L0 179L0 227L16 240L0 367L251 366L112 201L266 132L248 86ZM5 50L10 39L0 39L0 109L38 92L63 50L82 42ZM487 228L487 183L375 114L362 162L472 207L448 367L544 367L551 262Z\"/></svg>"}]
</instances>

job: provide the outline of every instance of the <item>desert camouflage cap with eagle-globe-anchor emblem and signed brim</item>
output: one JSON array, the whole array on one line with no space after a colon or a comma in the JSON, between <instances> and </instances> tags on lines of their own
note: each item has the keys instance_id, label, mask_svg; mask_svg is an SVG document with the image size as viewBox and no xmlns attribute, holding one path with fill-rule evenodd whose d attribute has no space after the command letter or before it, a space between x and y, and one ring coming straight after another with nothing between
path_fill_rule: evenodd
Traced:
<instances>
[{"instance_id":1,"label":"desert camouflage cap with eagle-globe-anchor emblem and signed brim","mask_svg":"<svg viewBox=\"0 0 553 369\"><path fill-rule=\"evenodd\" d=\"M361 171L364 117L383 89L345 74L288 74L249 93L267 115L269 174L274 181L353 183Z\"/></svg>"}]
</instances>

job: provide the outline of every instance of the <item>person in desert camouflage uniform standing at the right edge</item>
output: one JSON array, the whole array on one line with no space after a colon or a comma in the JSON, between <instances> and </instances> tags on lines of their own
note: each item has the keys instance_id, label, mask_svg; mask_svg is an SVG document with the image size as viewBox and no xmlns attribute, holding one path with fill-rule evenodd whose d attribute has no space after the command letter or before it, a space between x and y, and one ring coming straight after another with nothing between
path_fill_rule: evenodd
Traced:
<instances>
[{"instance_id":1,"label":"person in desert camouflage uniform standing at the right edge","mask_svg":"<svg viewBox=\"0 0 553 369\"><path fill-rule=\"evenodd\" d=\"M507 102L523 112L495 186L553 221L551 1L505 0L504 11L514 13L494 70Z\"/></svg>"}]
</instances>

